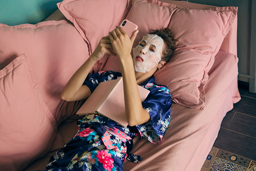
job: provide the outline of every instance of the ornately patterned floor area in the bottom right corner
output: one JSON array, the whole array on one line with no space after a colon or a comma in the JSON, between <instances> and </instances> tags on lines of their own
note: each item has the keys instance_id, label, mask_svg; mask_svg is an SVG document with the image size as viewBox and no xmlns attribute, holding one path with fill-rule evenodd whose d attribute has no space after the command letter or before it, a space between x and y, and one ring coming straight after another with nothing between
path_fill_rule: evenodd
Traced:
<instances>
[{"instance_id":1,"label":"ornately patterned floor area in the bottom right corner","mask_svg":"<svg viewBox=\"0 0 256 171\"><path fill-rule=\"evenodd\" d=\"M212 147L200 171L256 171L256 161Z\"/></svg>"}]
</instances>

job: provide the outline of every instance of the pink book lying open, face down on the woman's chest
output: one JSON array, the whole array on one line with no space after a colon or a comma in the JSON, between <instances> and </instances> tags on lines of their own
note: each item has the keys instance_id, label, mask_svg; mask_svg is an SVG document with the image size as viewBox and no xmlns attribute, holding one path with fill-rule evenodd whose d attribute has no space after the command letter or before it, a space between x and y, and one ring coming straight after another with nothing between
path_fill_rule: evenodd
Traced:
<instances>
[{"instance_id":1,"label":"pink book lying open, face down on the woman's chest","mask_svg":"<svg viewBox=\"0 0 256 171\"><path fill-rule=\"evenodd\" d=\"M141 102L143 102L150 90L139 85L138 90ZM76 112L80 116L95 113L106 116L123 127L127 127L122 76L115 80L101 82Z\"/></svg>"}]
</instances>

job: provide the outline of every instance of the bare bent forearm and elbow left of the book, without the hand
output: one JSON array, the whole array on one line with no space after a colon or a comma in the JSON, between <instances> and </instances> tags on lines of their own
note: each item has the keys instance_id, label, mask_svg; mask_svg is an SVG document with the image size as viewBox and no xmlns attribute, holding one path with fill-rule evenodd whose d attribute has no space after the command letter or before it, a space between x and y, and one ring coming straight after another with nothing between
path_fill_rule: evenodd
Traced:
<instances>
[{"instance_id":1,"label":"bare bent forearm and elbow left of the book, without the hand","mask_svg":"<svg viewBox=\"0 0 256 171\"><path fill-rule=\"evenodd\" d=\"M66 101L78 101L89 97L91 94L90 89L87 86L82 86L82 84L96 62L97 59L94 57L94 54L91 54L65 85L61 91L61 99Z\"/></svg>"}]
</instances>

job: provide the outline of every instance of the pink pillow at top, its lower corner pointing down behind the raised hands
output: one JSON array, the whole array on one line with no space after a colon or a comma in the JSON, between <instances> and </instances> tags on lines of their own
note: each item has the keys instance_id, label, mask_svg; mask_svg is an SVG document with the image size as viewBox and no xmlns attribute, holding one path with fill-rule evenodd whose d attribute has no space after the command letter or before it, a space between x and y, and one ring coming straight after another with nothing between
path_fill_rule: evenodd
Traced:
<instances>
[{"instance_id":1,"label":"pink pillow at top, its lower corner pointing down behind the raised hands","mask_svg":"<svg viewBox=\"0 0 256 171\"><path fill-rule=\"evenodd\" d=\"M121 22L127 0L63 0L57 6L89 43L91 55L100 39Z\"/></svg>"}]
</instances>

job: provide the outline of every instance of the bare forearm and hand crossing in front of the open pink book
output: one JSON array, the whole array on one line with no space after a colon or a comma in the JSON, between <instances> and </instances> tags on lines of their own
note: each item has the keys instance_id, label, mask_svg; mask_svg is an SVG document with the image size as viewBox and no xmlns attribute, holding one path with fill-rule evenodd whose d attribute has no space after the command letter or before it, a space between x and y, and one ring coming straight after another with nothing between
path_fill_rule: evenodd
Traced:
<instances>
[{"instance_id":1,"label":"bare forearm and hand crossing in front of the open pink book","mask_svg":"<svg viewBox=\"0 0 256 171\"><path fill-rule=\"evenodd\" d=\"M139 89L134 72L131 49L138 30L134 31L131 38L123 28L116 26L109 32L113 49L121 62L124 84L125 115L130 126L140 125L150 120L150 114L143 109Z\"/></svg>"}]
</instances>

